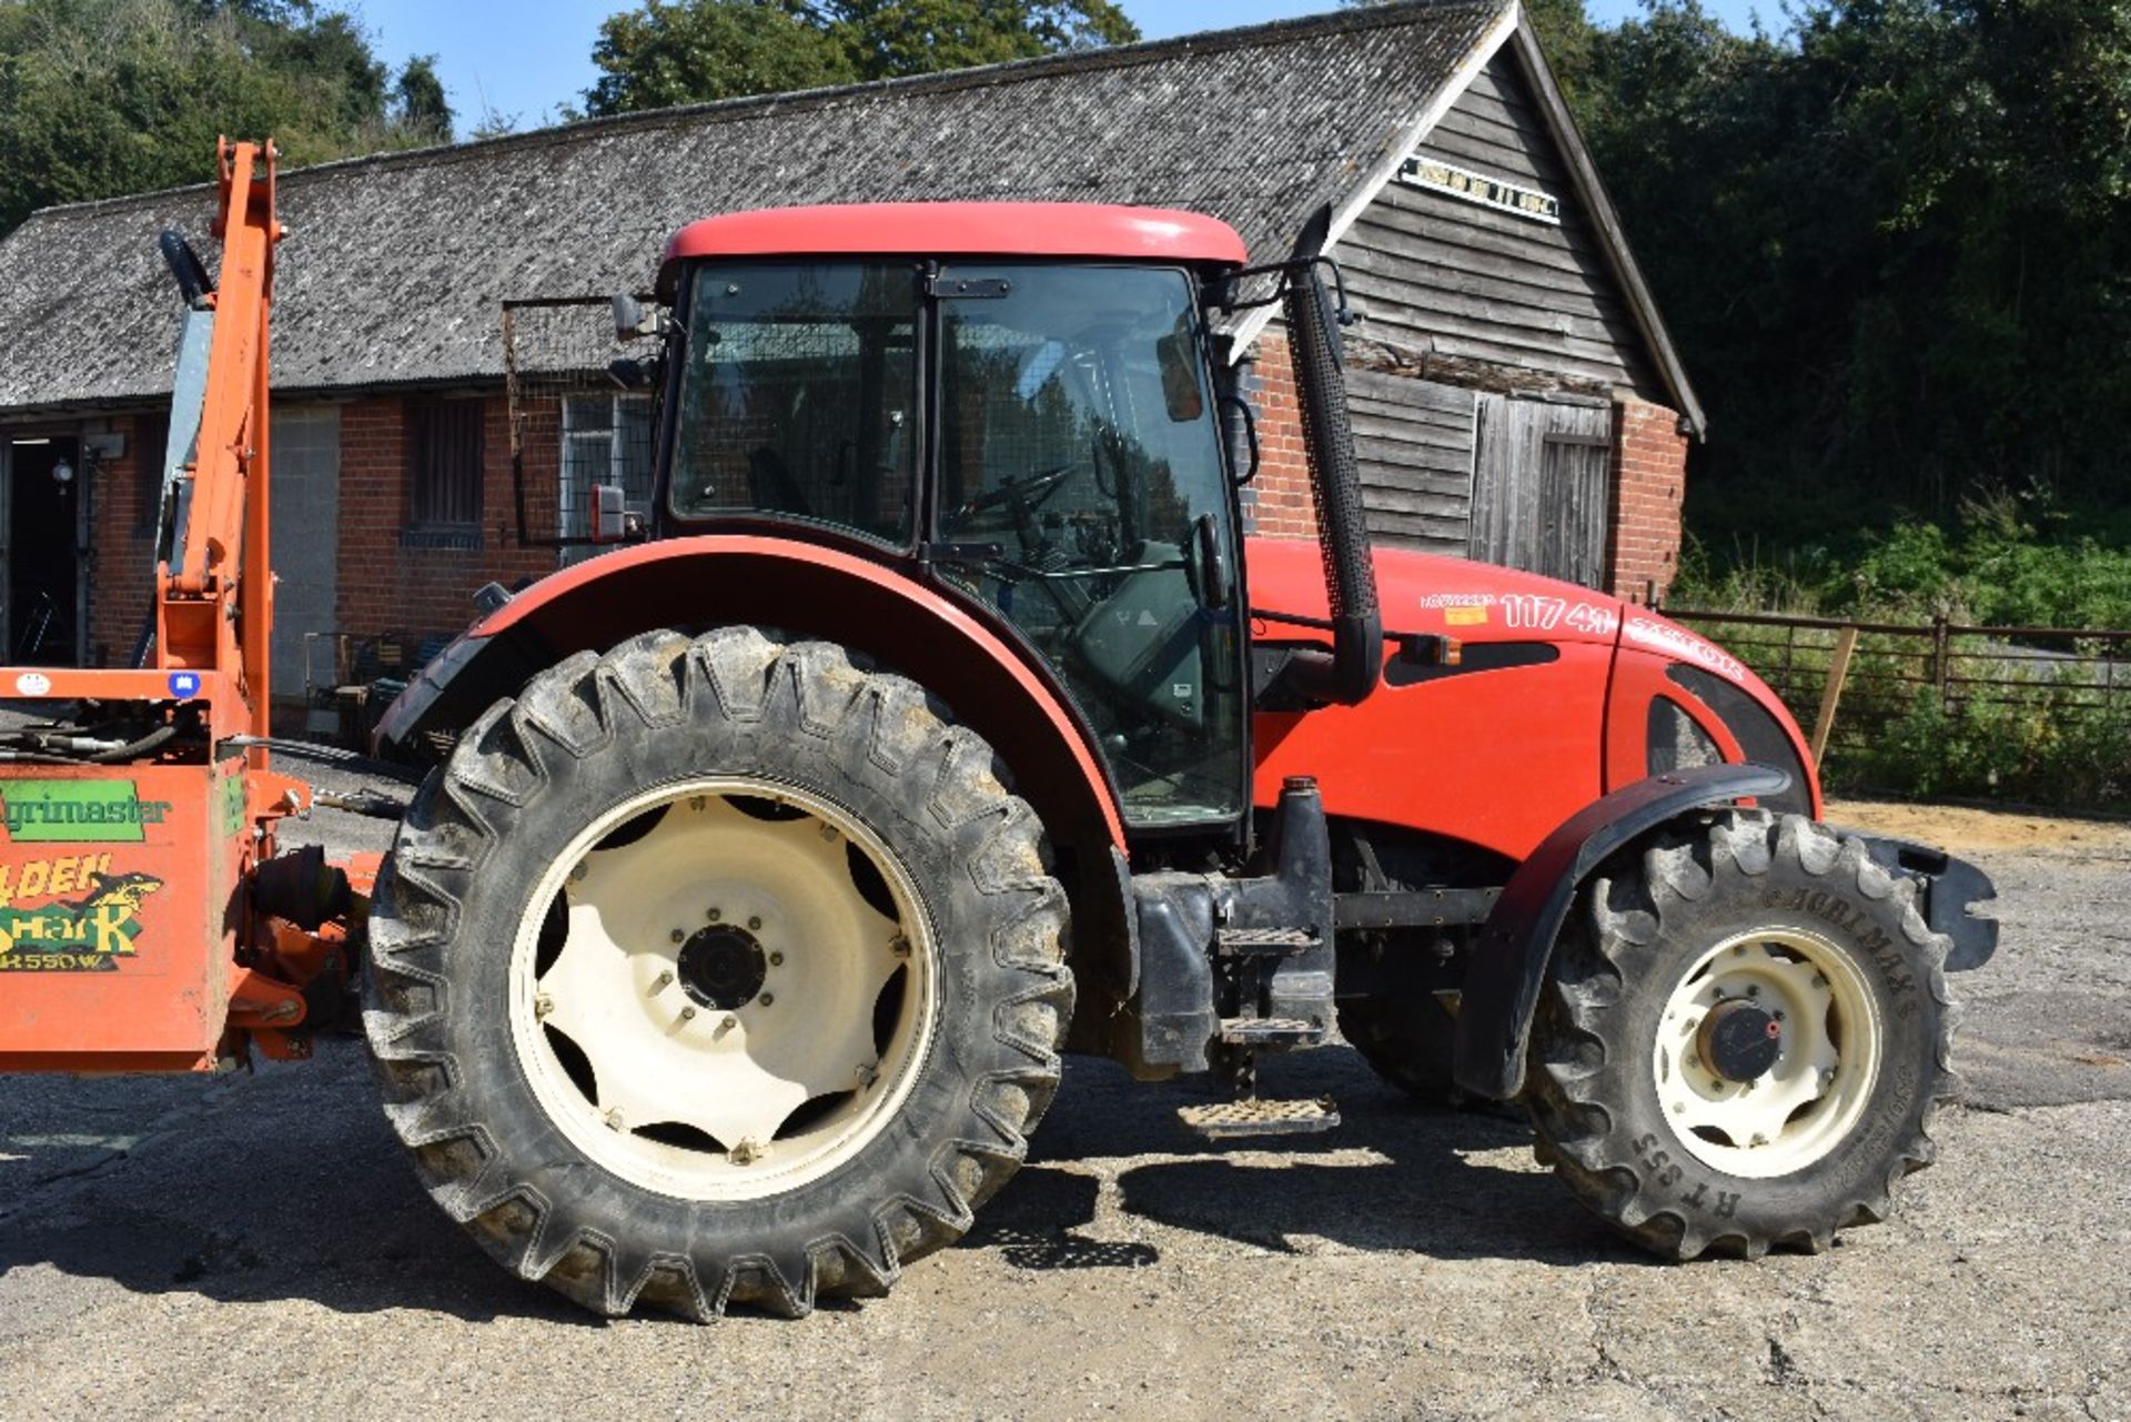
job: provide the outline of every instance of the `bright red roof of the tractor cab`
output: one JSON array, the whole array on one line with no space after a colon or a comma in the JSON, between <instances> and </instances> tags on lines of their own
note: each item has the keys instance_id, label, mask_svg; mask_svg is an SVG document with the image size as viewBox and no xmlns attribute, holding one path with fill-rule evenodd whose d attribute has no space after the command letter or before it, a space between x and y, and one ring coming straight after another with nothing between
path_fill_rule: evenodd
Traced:
<instances>
[{"instance_id":1,"label":"bright red roof of the tractor cab","mask_svg":"<svg viewBox=\"0 0 2131 1422\"><path fill-rule=\"evenodd\" d=\"M1219 217L1100 203L852 203L769 207L690 222L667 243L658 290L676 264L705 256L1070 256L1129 262L1249 260Z\"/></svg>"}]
</instances>

